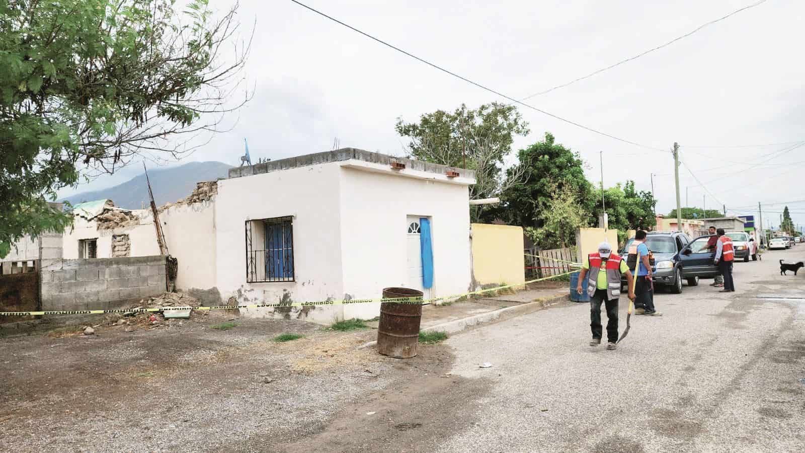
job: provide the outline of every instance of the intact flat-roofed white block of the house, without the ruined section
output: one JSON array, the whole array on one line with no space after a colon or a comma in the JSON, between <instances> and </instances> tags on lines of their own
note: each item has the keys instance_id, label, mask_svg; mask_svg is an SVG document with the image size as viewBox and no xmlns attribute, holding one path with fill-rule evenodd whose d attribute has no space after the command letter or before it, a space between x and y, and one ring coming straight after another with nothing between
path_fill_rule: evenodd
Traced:
<instances>
[{"instance_id":1,"label":"intact flat-roofed white block of the house, without the ruined section","mask_svg":"<svg viewBox=\"0 0 805 453\"><path fill-rule=\"evenodd\" d=\"M233 168L215 200L217 289L238 303L377 298L390 286L464 293L474 183L472 171L353 148ZM422 258L428 226L432 272ZM317 322L379 311L303 310Z\"/></svg>"}]
</instances>

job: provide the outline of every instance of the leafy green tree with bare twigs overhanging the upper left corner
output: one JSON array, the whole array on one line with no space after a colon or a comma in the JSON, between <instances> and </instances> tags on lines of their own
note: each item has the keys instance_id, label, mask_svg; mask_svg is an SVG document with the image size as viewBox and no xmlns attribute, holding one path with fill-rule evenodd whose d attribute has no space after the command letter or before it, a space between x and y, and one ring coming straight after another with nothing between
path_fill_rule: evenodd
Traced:
<instances>
[{"instance_id":1,"label":"leafy green tree with bare twigs overhanging the upper left corner","mask_svg":"<svg viewBox=\"0 0 805 453\"><path fill-rule=\"evenodd\" d=\"M248 46L208 0L0 0L0 257L70 218L46 198L82 171L178 157L214 131ZM246 99L246 98L244 98Z\"/></svg>"}]
</instances>

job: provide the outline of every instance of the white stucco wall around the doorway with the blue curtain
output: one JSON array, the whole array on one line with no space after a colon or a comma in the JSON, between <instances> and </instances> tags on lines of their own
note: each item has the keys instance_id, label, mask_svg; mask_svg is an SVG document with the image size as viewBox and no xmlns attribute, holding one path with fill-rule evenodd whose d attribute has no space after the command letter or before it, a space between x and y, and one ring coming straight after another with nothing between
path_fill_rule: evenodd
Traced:
<instances>
[{"instance_id":1,"label":"white stucco wall around the doorway with the blue curtain","mask_svg":"<svg viewBox=\"0 0 805 453\"><path fill-rule=\"evenodd\" d=\"M426 178L426 179L419 179ZM468 290L469 181L349 161L341 168L344 290L354 298L407 286L407 216L431 218L430 297ZM427 297L427 295L426 295ZM380 304L345 305L345 318L374 318Z\"/></svg>"}]
</instances>

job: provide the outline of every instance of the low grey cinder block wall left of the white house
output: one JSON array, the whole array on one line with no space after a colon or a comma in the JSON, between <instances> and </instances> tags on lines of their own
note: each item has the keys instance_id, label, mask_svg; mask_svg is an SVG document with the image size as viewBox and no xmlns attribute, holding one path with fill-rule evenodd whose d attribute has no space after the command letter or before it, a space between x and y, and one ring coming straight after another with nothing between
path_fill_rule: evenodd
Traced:
<instances>
[{"instance_id":1,"label":"low grey cinder block wall left of the white house","mask_svg":"<svg viewBox=\"0 0 805 453\"><path fill-rule=\"evenodd\" d=\"M109 310L165 292L165 257L61 260L42 271L42 310Z\"/></svg>"}]
</instances>

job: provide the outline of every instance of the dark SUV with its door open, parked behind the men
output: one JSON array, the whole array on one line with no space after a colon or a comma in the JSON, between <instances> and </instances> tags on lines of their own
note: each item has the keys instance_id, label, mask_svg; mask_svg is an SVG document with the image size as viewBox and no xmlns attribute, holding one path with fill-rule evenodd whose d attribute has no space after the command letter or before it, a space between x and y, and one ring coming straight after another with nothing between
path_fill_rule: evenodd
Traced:
<instances>
[{"instance_id":1,"label":"dark SUV with its door open, parked behind the men","mask_svg":"<svg viewBox=\"0 0 805 453\"><path fill-rule=\"evenodd\" d=\"M624 260L629 256L629 247L633 242L634 238L626 241L626 246L621 251ZM646 235L646 245L654 255L654 266L651 268L654 285L666 286L674 294L682 293L683 280L687 280L688 286L699 285L699 275L688 272L680 260L681 252L690 243L691 238L682 231L650 231ZM621 291L625 288L626 277L623 276Z\"/></svg>"}]
</instances>

